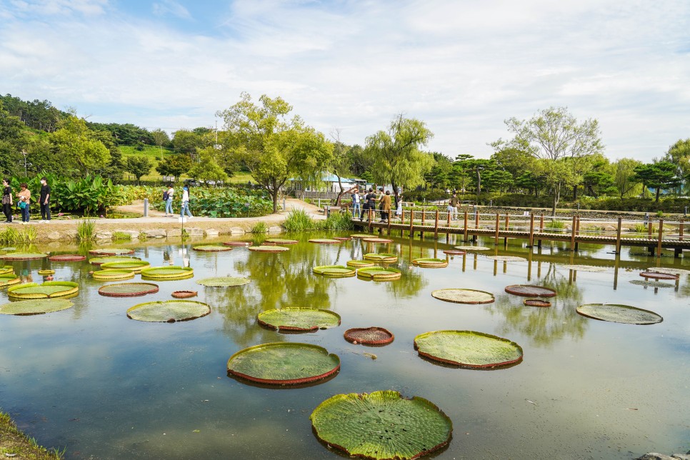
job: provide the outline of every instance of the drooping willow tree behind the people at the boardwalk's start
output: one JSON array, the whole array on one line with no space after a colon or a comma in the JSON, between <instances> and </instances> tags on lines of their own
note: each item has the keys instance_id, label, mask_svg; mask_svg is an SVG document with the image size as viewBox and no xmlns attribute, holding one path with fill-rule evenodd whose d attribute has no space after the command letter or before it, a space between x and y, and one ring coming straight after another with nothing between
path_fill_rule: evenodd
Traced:
<instances>
[{"instance_id":1,"label":"drooping willow tree behind the people at the boardwalk's start","mask_svg":"<svg viewBox=\"0 0 690 460\"><path fill-rule=\"evenodd\" d=\"M366 138L366 152L371 157L371 176L377 184L391 184L396 200L398 188L424 184L424 174L434 166L434 157L421 151L434 134L424 121L406 119L399 114L388 131Z\"/></svg>"}]
</instances>

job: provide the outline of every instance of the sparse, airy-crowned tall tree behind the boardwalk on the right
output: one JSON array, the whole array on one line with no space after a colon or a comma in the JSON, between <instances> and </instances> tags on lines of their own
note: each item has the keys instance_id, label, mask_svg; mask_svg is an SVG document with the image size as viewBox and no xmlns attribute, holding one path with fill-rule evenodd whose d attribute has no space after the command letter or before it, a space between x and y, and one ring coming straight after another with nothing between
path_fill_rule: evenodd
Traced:
<instances>
[{"instance_id":1,"label":"sparse, airy-crowned tall tree behind the boardwalk on the right","mask_svg":"<svg viewBox=\"0 0 690 460\"><path fill-rule=\"evenodd\" d=\"M566 107L551 107L539 111L529 120L511 118L505 123L515 135L506 146L529 151L539 160L535 169L539 169L545 184L551 189L551 214L555 216L561 186L579 184L582 171L576 169L581 165L579 159L604 149L599 122L589 119L579 124ZM504 144L504 141L499 139L494 144Z\"/></svg>"}]
</instances>

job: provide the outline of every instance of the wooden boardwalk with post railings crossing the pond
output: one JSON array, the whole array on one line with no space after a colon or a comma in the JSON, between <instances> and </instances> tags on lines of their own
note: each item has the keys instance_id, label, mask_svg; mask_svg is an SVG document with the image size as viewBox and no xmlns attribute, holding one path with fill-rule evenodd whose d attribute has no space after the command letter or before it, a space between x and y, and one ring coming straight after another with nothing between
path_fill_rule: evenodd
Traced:
<instances>
[{"instance_id":1,"label":"wooden boardwalk with post railings crossing the pond","mask_svg":"<svg viewBox=\"0 0 690 460\"><path fill-rule=\"evenodd\" d=\"M664 235L664 220L659 219L652 223L649 222L646 236L623 236L622 219L618 221L609 221L610 224L616 224L616 231L610 232L615 235L599 235L592 234L589 231L580 231L580 219L577 216L572 218L571 228L565 229L546 229L544 227L544 216L523 216L526 221L521 221L524 224L524 229L517 226L510 226L510 216L496 214L494 219L488 221L486 215L480 218L479 214L464 213L463 219L458 222L458 226L453 226L455 221L451 221L451 215L448 213L440 214L439 211L433 211L431 219L429 219L429 211L414 211L407 212L401 216L401 219L396 221L380 222L375 221L374 213L371 213L371 220L353 219L355 228L368 229L386 229L387 231L401 231L404 235L408 232L409 235L419 234L433 234L434 238L438 238L439 234L459 234L464 236L464 241L476 241L478 236L494 238L494 243L499 244L500 239L526 239L527 246L541 247L542 241L563 241L570 244L571 251L577 251L579 244L604 244L615 246L616 254L620 254L622 246L638 246L645 247L649 250L650 255L661 256L662 249L673 249L676 257L681 256L683 249L690 249L690 239L684 237L684 221L674 223L674 228L677 228L677 234ZM469 221L471 216L474 222ZM536 221L535 217L539 219ZM407 219L406 219L407 218ZM410 219L411 218L411 219ZM440 221L443 218L444 221ZM480 221L480 219L483 219ZM658 225L654 229L654 225ZM668 226L667 226L668 229ZM654 231L654 234L652 232ZM639 235L639 234L638 234Z\"/></svg>"}]
</instances>

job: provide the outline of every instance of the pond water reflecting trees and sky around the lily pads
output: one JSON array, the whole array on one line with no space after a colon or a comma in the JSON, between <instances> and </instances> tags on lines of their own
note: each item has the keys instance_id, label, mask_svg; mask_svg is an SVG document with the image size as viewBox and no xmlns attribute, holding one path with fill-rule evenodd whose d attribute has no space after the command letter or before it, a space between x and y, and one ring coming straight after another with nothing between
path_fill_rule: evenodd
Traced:
<instances>
[{"instance_id":1,"label":"pond water reflecting trees and sky around the lily pads","mask_svg":"<svg viewBox=\"0 0 690 460\"><path fill-rule=\"evenodd\" d=\"M321 236L321 235L320 235ZM334 236L334 235L330 235ZM343 236L343 235L335 235ZM290 236L289 236L290 237ZM565 244L525 249L525 241L488 251L446 256L467 244L393 236L393 243L359 239L314 244L314 235L283 253L194 251L197 241L132 244L151 266L186 264L194 278L149 281L159 292L114 298L98 294L111 281L89 275L88 261L14 261L15 272L41 281L39 269L79 284L75 306L36 315L0 315L0 407L44 446L63 448L67 459L327 459L338 455L311 429L309 415L334 394L393 389L422 396L453 421L449 446L437 458L630 459L647 451L690 449L689 276L669 286L644 281L650 266L690 269L690 261L646 256L641 249L616 258L610 246ZM224 240L204 240L204 244ZM86 249L37 247L53 254ZM314 266L394 253L397 281L334 279ZM529 260L499 261L490 256ZM446 268L411 265L420 257L448 259ZM574 271L567 265L603 267ZM245 276L244 286L196 284L209 276ZM140 275L134 280L139 281ZM558 291L552 306L524 306L506 294L511 284ZM495 295L492 304L453 304L431 291L470 288ZM211 314L193 321L147 323L126 316L131 306L168 300L177 290L199 291L194 300ZM0 292L8 301L6 289ZM618 324L580 316L589 303L637 306L664 321ZM311 306L341 316L341 326L308 334L283 334L259 326L267 309ZM368 347L344 340L346 329L381 326L392 344ZM495 370L459 369L421 359L414 337L458 329L495 334L524 350L520 364ZM267 388L227 375L227 361L248 346L304 342L340 357L334 378L297 388ZM374 359L375 358L375 359Z\"/></svg>"}]
</instances>

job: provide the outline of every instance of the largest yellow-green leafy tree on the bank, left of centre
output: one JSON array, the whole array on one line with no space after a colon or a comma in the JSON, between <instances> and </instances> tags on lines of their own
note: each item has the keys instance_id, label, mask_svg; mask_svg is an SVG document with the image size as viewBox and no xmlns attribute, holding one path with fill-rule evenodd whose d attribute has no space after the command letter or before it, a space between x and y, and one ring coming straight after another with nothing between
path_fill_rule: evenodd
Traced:
<instances>
[{"instance_id":1,"label":"largest yellow-green leafy tree on the bank, left of centre","mask_svg":"<svg viewBox=\"0 0 690 460\"><path fill-rule=\"evenodd\" d=\"M323 134L299 116L289 118L291 111L292 106L280 97L264 94L254 104L249 94L242 93L237 104L217 114L225 121L226 162L239 161L251 172L273 198L274 212L281 187L289 179L320 180L333 151Z\"/></svg>"}]
</instances>

